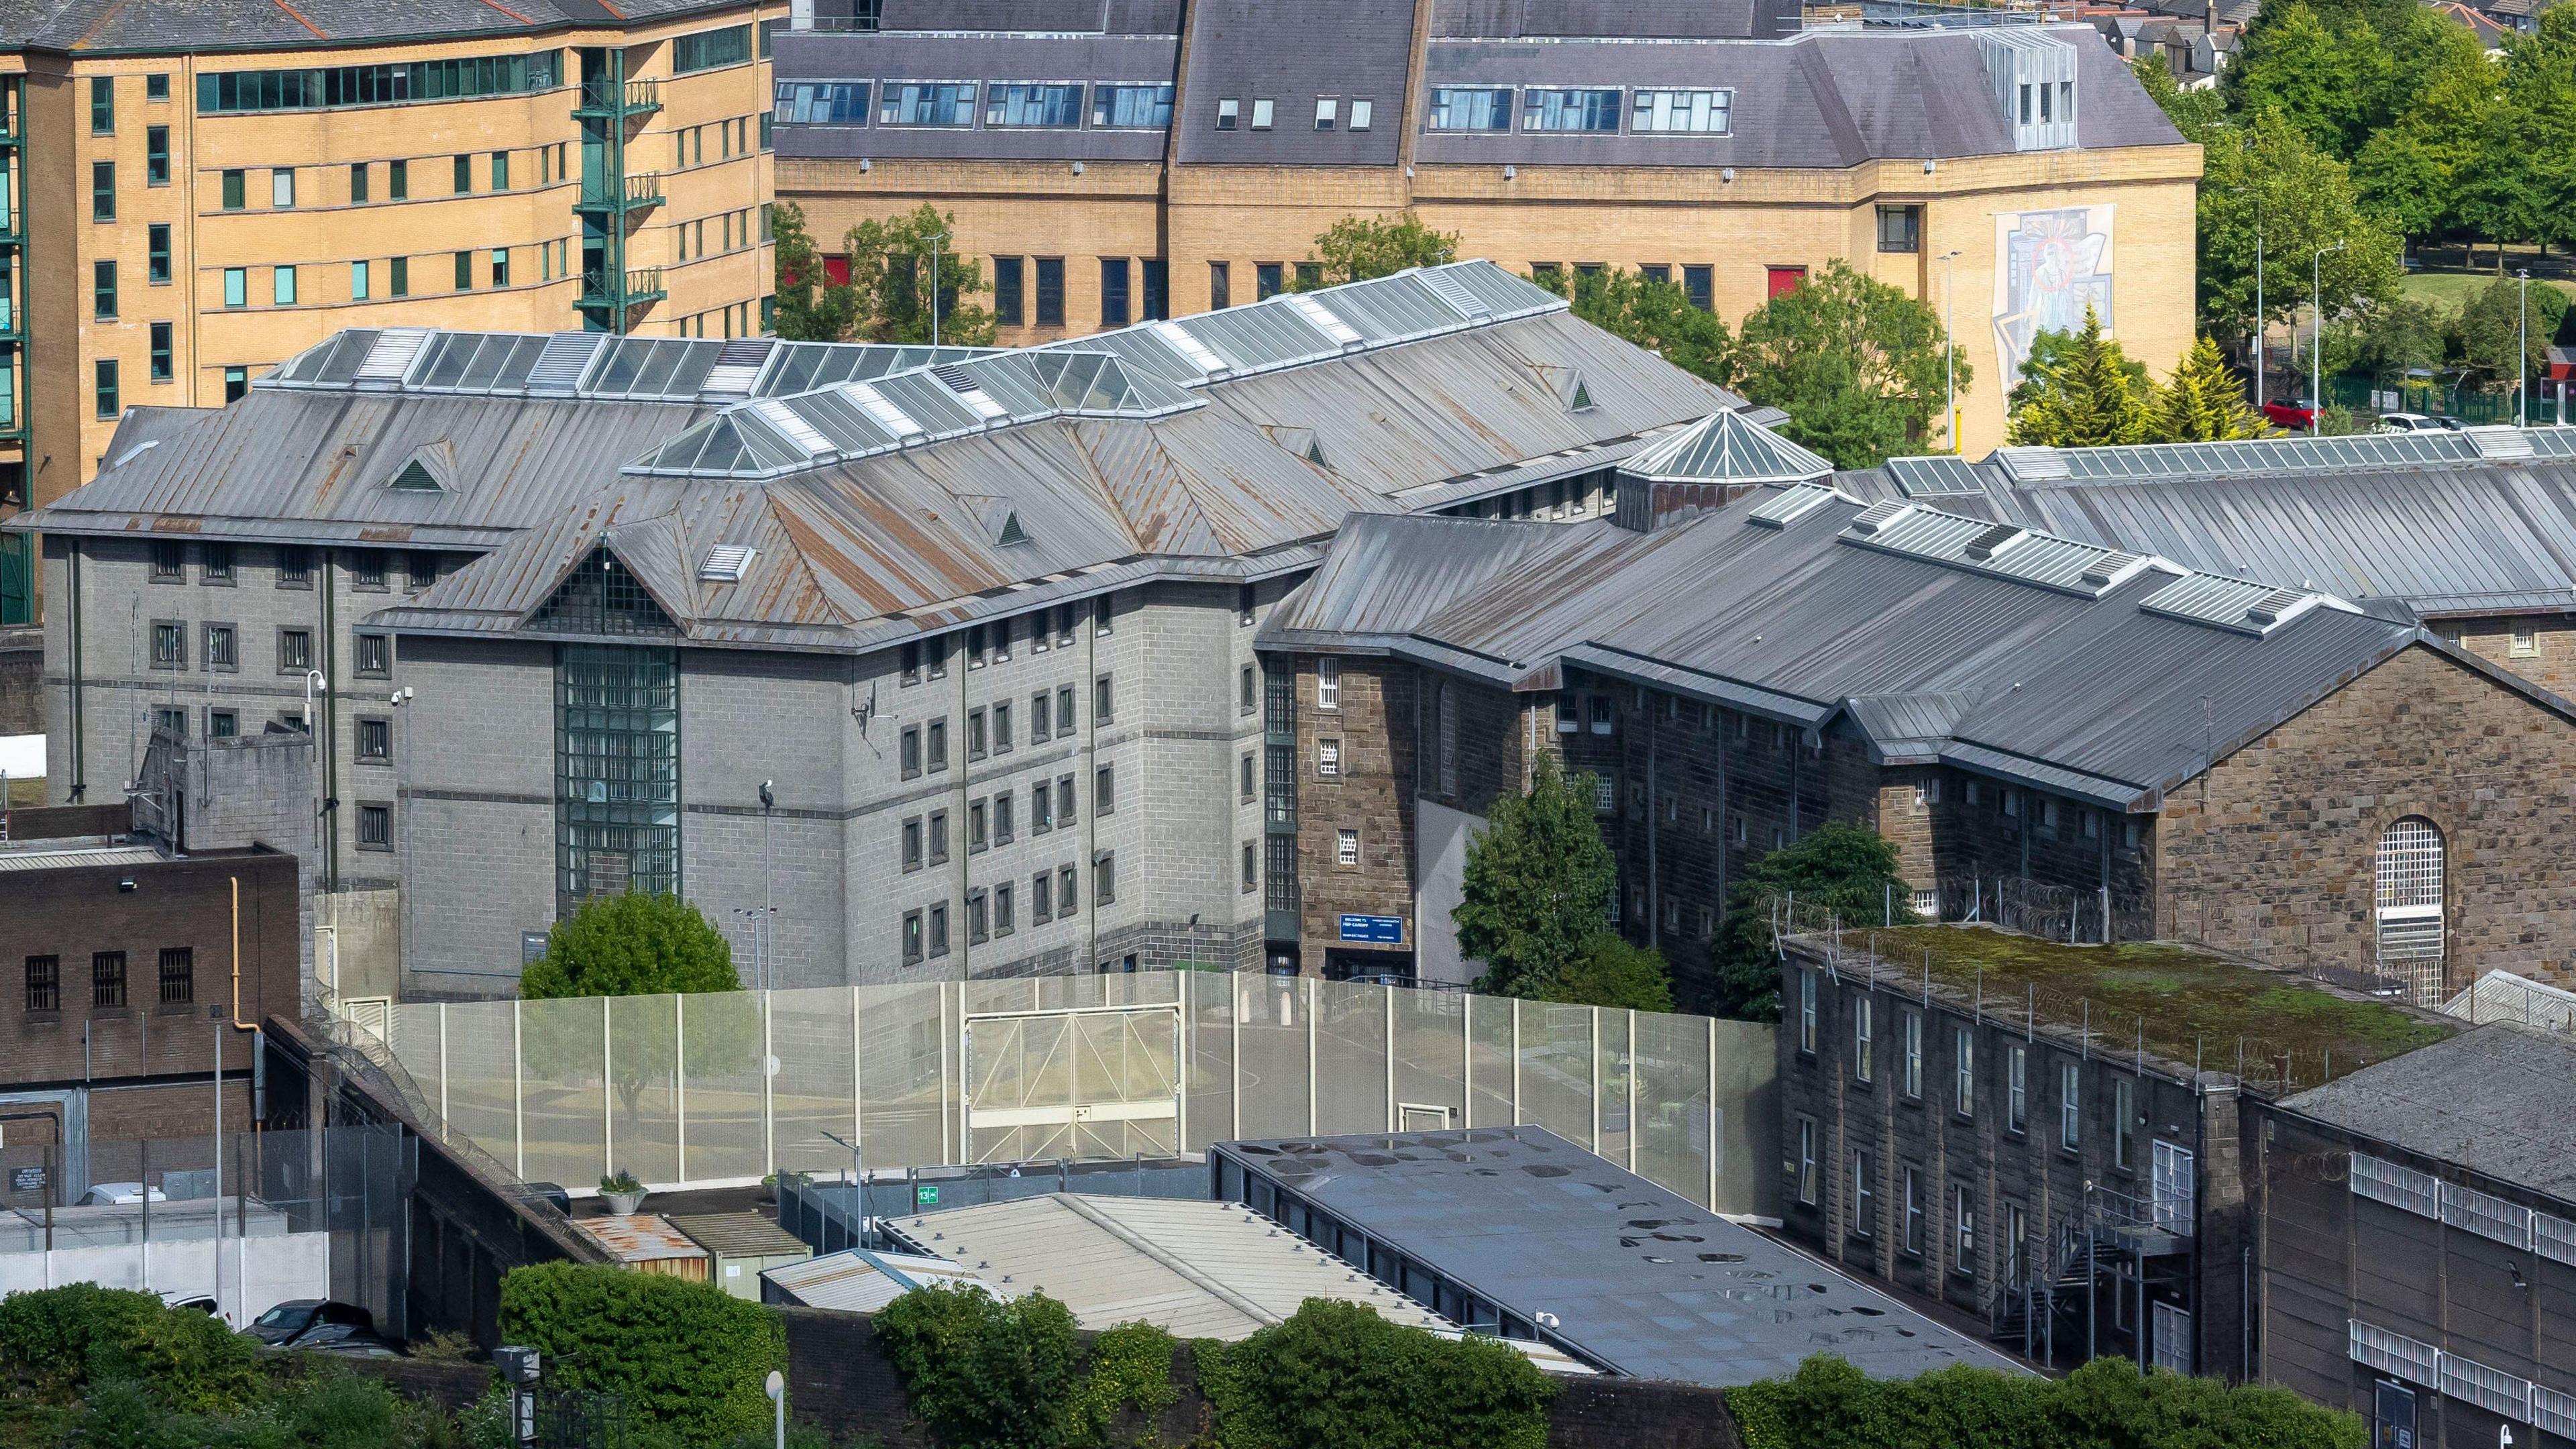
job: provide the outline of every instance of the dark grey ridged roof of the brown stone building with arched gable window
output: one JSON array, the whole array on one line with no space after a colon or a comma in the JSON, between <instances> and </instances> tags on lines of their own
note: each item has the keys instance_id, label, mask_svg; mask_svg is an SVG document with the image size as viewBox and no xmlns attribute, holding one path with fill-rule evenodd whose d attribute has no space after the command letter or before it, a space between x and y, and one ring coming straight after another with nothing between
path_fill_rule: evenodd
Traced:
<instances>
[{"instance_id":1,"label":"dark grey ridged roof of the brown stone building with arched gable window","mask_svg":"<svg viewBox=\"0 0 2576 1449\"><path fill-rule=\"evenodd\" d=\"M2156 810L2406 647L2568 709L2331 596L1839 492L1770 523L1777 498L1651 534L1352 518L1262 647L1388 652L1520 691L1574 665L1808 730L1842 719L1880 763L2110 810Z\"/></svg>"}]
</instances>

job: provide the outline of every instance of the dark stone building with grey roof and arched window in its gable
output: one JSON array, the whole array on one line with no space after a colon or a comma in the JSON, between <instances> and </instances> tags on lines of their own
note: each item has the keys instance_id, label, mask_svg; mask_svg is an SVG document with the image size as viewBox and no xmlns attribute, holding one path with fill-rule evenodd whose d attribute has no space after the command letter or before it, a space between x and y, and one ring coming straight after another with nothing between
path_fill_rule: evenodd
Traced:
<instances>
[{"instance_id":1,"label":"dark stone building with grey roof and arched window in its gable","mask_svg":"<svg viewBox=\"0 0 2576 1449\"><path fill-rule=\"evenodd\" d=\"M1618 518L1571 529L1352 521L1260 639L1296 676L1273 763L1303 900L1273 908L1303 951L1471 977L1466 838L1553 753L1595 776L1613 910L1685 1000L1716 985L1731 882L1824 820L1888 835L1914 887L1888 905L1945 920L2205 941L2419 1000L2568 969L2558 696L2393 601L1793 467L1628 472Z\"/></svg>"}]
</instances>

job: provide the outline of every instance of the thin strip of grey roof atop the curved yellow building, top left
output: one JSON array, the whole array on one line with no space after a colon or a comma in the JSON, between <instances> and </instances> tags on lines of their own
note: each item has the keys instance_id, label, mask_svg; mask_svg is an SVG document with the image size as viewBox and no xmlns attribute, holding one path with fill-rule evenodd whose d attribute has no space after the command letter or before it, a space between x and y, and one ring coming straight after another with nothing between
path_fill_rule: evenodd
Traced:
<instances>
[{"instance_id":1,"label":"thin strip of grey roof atop the curved yellow building, top left","mask_svg":"<svg viewBox=\"0 0 2576 1449\"><path fill-rule=\"evenodd\" d=\"M0 49L82 54L319 49L433 36L507 36L569 26L747 10L744 0L0 0Z\"/></svg>"}]
</instances>

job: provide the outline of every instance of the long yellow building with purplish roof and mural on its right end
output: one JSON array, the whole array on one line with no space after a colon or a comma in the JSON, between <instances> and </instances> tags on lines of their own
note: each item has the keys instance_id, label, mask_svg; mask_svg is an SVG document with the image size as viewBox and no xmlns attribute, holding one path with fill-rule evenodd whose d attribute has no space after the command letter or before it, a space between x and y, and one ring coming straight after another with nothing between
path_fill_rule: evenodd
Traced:
<instances>
[{"instance_id":1,"label":"long yellow building with purplish roof and mural on its right end","mask_svg":"<svg viewBox=\"0 0 2576 1449\"><path fill-rule=\"evenodd\" d=\"M2172 369L2200 147L2081 26L1821 26L1775 0L817 0L778 193L817 245L922 201L1005 343L1252 302L1340 217L1520 273L1646 268L1739 322L1842 258L1953 317L1971 456L2092 304ZM840 13L835 13L835 5ZM1940 438L1935 438L1940 443Z\"/></svg>"}]
</instances>

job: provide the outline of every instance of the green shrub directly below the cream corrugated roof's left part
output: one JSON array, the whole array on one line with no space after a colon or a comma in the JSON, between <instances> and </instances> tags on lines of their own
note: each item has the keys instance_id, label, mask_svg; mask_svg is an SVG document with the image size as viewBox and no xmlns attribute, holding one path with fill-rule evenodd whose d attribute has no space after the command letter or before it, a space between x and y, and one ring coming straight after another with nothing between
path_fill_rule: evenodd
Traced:
<instances>
[{"instance_id":1,"label":"green shrub directly below the cream corrugated roof's left part","mask_svg":"<svg viewBox=\"0 0 2576 1449\"><path fill-rule=\"evenodd\" d=\"M1056 1449L1079 1431L1074 1315L1046 1294L912 1289L876 1315L876 1341L951 1449Z\"/></svg>"}]
</instances>

